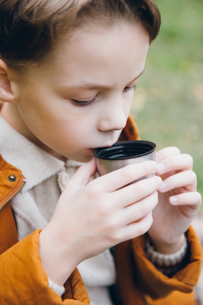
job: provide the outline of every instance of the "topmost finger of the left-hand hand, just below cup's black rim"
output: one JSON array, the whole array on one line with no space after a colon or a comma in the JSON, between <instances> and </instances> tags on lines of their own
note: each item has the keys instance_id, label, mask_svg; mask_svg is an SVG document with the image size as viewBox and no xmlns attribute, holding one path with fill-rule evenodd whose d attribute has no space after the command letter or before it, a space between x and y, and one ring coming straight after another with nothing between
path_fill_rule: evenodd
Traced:
<instances>
[{"instance_id":1,"label":"topmost finger of the left-hand hand, just below cup's black rim","mask_svg":"<svg viewBox=\"0 0 203 305\"><path fill-rule=\"evenodd\" d=\"M92 187L103 188L106 192L111 192L123 188L129 183L157 172L157 163L145 161L127 165L119 170L105 174L91 182Z\"/></svg>"}]
</instances>

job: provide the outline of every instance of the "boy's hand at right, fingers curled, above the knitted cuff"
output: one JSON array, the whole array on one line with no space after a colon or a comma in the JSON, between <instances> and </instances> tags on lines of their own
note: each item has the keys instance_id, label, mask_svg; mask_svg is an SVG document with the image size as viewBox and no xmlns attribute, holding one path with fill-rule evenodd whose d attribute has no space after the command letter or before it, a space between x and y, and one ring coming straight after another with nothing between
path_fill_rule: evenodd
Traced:
<instances>
[{"instance_id":1,"label":"boy's hand at right, fingers curled, above the knitted cuff","mask_svg":"<svg viewBox=\"0 0 203 305\"><path fill-rule=\"evenodd\" d=\"M157 251L170 254L181 248L183 234L200 210L201 195L196 192L197 178L190 155L168 147L157 152L157 159L163 185L148 233Z\"/></svg>"}]
</instances>

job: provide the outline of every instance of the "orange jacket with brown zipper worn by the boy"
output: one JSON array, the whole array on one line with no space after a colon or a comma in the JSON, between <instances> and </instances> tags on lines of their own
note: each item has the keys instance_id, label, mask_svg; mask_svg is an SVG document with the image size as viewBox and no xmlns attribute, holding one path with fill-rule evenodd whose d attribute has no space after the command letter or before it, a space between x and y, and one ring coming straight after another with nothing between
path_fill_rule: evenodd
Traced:
<instances>
[{"instance_id":1,"label":"orange jacket with brown zipper worn by the boy","mask_svg":"<svg viewBox=\"0 0 203 305\"><path fill-rule=\"evenodd\" d=\"M131 117L122 137L138 138ZM18 242L9 201L23 184L21 171L0 156L0 304L88 305L89 298L77 269L65 283L66 291L62 298L49 288L38 252L40 229ZM124 305L196 304L192 291L201 269L202 249L191 227L187 237L190 262L172 278L159 272L146 258L145 235L116 246L114 261Z\"/></svg>"}]
</instances>

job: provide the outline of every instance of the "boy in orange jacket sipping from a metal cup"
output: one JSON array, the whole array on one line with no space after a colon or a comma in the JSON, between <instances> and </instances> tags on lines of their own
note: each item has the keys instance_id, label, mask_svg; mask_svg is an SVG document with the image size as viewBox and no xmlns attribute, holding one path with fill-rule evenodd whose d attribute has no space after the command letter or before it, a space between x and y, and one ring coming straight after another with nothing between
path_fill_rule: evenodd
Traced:
<instances>
[{"instance_id":1,"label":"boy in orange jacket sipping from a metal cup","mask_svg":"<svg viewBox=\"0 0 203 305\"><path fill-rule=\"evenodd\" d=\"M137 138L129 111L156 5L6 0L0 11L1 304L194 304L192 158L166 148L158 163L91 179L94 148Z\"/></svg>"}]
</instances>

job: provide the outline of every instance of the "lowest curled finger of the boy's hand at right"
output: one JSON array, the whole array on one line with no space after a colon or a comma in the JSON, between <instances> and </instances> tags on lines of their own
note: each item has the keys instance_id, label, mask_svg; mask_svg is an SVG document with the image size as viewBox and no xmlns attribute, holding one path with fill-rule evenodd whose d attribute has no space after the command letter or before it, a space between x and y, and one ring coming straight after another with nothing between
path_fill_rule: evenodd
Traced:
<instances>
[{"instance_id":1,"label":"lowest curled finger of the boy's hand at right","mask_svg":"<svg viewBox=\"0 0 203 305\"><path fill-rule=\"evenodd\" d=\"M198 192L185 192L177 196L171 196L169 198L170 204L173 206L194 206L195 209L199 209L202 203L202 196Z\"/></svg>"}]
</instances>

